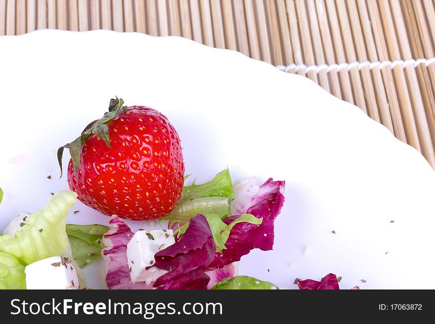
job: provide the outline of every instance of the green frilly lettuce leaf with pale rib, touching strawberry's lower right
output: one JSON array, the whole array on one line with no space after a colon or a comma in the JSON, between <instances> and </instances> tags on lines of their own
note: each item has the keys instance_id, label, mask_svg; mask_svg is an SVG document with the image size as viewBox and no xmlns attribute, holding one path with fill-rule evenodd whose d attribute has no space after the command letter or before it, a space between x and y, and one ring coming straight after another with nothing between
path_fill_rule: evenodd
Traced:
<instances>
[{"instance_id":1,"label":"green frilly lettuce leaf with pale rib, touching strawberry's lower right","mask_svg":"<svg viewBox=\"0 0 435 324\"><path fill-rule=\"evenodd\" d=\"M225 218L230 212L230 204L234 196L229 170L219 172L215 178L203 184L184 186L181 198L168 216L159 220L188 223L190 218L201 214L216 214Z\"/></svg>"}]
</instances>

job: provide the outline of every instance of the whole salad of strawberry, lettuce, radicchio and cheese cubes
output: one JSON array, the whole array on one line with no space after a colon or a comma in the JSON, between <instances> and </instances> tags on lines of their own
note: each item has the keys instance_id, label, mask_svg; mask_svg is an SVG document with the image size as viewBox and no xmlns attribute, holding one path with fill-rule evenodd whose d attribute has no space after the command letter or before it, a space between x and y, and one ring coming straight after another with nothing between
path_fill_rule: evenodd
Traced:
<instances>
[{"instance_id":1,"label":"whole salad of strawberry, lettuce, radicchio and cheese cubes","mask_svg":"<svg viewBox=\"0 0 435 324\"><path fill-rule=\"evenodd\" d=\"M252 177L233 186L224 169L185 186L174 126L153 108L123 104L111 99L102 118L59 148L61 177L64 149L71 154L70 190L3 230L0 289L86 289L82 269L101 256L108 289L278 289L238 276L237 263L253 249L273 248L285 181L258 185ZM109 226L67 224L77 200L109 216ZM157 219L164 227L133 233L125 219ZM295 284L338 289L338 282L329 274Z\"/></svg>"}]
</instances>

